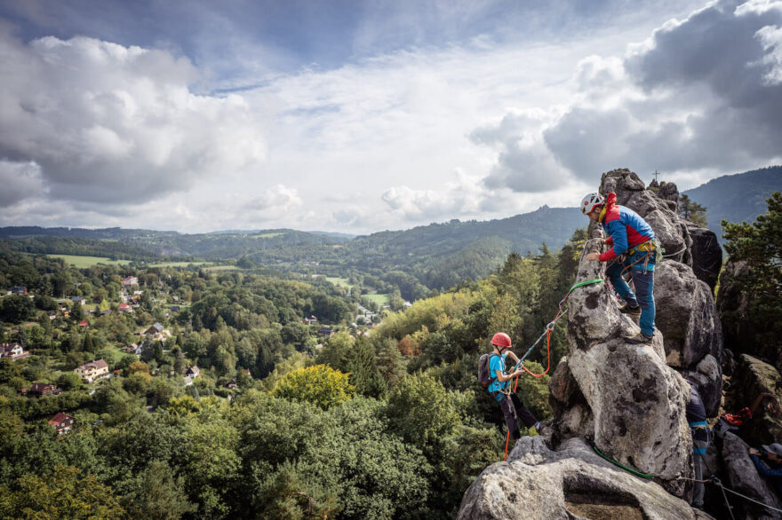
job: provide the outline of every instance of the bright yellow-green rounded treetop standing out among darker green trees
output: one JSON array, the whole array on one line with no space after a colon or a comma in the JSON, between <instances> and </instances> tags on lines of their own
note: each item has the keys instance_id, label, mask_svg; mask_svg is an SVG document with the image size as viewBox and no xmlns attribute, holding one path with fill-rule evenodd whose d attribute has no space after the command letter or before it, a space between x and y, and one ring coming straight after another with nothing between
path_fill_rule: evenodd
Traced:
<instances>
[{"instance_id":1,"label":"bright yellow-green rounded treetop standing out among darker green trees","mask_svg":"<svg viewBox=\"0 0 782 520\"><path fill-rule=\"evenodd\" d=\"M348 374L330 366L315 365L283 375L272 393L278 398L306 401L326 409L347 401L354 390Z\"/></svg>"}]
</instances>

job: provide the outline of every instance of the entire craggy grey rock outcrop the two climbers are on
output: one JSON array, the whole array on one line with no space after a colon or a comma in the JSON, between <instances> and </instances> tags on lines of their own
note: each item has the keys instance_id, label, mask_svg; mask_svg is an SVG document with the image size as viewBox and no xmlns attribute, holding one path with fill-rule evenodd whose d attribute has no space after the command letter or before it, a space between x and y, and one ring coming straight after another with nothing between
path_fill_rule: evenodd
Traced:
<instances>
[{"instance_id":1,"label":"entire craggy grey rock outcrop the two climbers are on","mask_svg":"<svg viewBox=\"0 0 782 520\"><path fill-rule=\"evenodd\" d=\"M716 414L722 332L712 290L693 272L704 257L692 248L699 228L691 232L678 217L675 185L666 195L673 200L661 199L633 172L618 169L603 175L600 191L617 193L618 203L644 217L669 252L655 276L658 334L651 346L627 343L638 327L618 311L608 284L576 289L568 302L568 355L549 385L555 410L549 444L523 437L507 463L485 469L470 486L460 518L698 517L677 498L687 495L692 476L684 414L690 386L671 366L689 370L708 413ZM602 233L593 225L589 236L598 238L586 243L577 282L605 277L605 264L585 258L604 248ZM654 482L602 460L585 438L611 459L654 475Z\"/></svg>"}]
</instances>

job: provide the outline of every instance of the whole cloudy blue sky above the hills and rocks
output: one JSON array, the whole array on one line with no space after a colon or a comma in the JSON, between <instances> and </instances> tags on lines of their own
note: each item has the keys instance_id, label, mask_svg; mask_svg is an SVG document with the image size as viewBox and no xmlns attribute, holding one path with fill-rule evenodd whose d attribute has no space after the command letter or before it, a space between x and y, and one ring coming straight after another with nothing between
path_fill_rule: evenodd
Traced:
<instances>
[{"instance_id":1,"label":"whole cloudy blue sky above the hills and rocks","mask_svg":"<svg viewBox=\"0 0 782 520\"><path fill-rule=\"evenodd\" d=\"M0 225L400 229L780 162L782 2L0 1Z\"/></svg>"}]
</instances>

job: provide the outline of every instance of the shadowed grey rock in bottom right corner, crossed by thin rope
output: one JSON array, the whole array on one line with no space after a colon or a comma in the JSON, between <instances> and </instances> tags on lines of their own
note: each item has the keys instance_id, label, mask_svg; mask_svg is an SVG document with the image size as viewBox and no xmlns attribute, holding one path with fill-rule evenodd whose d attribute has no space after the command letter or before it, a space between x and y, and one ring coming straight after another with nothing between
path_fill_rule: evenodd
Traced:
<instances>
[{"instance_id":1,"label":"shadowed grey rock in bottom right corner, crossed by thin rope","mask_svg":"<svg viewBox=\"0 0 782 520\"><path fill-rule=\"evenodd\" d=\"M777 494L755 469L754 462L749 458L748 451L749 446L743 440L732 433L725 434L725 437L722 439L722 461L725 465L727 478L725 485L753 500L768 504L773 508L782 508L782 503L778 500ZM728 497L730 504L738 509L737 518L746 518L747 520L782 518L782 514L774 512L769 508L763 508L749 500L740 499L730 493L728 493Z\"/></svg>"}]
</instances>

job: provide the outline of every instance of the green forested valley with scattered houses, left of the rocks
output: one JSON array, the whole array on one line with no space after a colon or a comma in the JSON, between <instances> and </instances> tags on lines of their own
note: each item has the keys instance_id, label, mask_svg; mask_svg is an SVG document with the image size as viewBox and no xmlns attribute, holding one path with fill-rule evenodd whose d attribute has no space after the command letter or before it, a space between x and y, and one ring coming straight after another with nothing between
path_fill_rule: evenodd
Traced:
<instances>
[{"instance_id":1,"label":"green forested valley with scattered houses, left of the rocks","mask_svg":"<svg viewBox=\"0 0 782 520\"><path fill-rule=\"evenodd\" d=\"M505 438L477 358L499 329L537 339L583 240L382 318L324 281L4 252L0 286L28 294L0 298L0 341L28 357L0 359L0 516L452 517ZM547 376L523 385L545 419Z\"/></svg>"}]
</instances>

